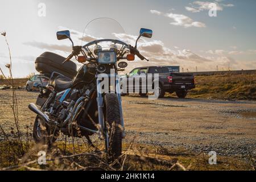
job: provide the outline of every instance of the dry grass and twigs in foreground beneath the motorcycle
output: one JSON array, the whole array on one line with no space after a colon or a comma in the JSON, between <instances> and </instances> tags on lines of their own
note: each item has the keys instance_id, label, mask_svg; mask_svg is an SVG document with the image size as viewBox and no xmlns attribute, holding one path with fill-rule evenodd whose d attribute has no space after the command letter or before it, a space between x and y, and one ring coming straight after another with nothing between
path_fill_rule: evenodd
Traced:
<instances>
[{"instance_id":1,"label":"dry grass and twigs in foreground beneath the motorcycle","mask_svg":"<svg viewBox=\"0 0 256 182\"><path fill-rule=\"evenodd\" d=\"M177 170L253 170L254 166L238 158L218 156L217 165L208 163L209 156L204 152L192 154L188 151L171 150L163 146L149 146L135 143L123 144L123 155L109 161L102 150L95 150L88 144L69 143L65 140L55 143L49 150L46 146L34 144L28 135L21 153L15 140L0 142L0 170L108 170L108 171L177 171ZM100 147L100 146L98 146ZM47 152L46 165L38 164L38 152ZM253 164L253 162L252 162Z\"/></svg>"}]
</instances>

